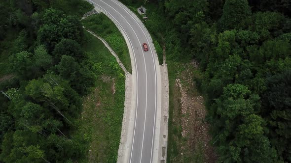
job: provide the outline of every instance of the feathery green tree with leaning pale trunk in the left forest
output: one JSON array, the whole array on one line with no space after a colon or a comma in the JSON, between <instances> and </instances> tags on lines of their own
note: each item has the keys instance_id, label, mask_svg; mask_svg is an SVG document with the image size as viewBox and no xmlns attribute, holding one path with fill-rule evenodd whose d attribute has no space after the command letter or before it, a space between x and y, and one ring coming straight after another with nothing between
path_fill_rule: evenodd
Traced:
<instances>
[{"instance_id":1,"label":"feathery green tree with leaning pale trunk in the left forest","mask_svg":"<svg viewBox=\"0 0 291 163\"><path fill-rule=\"evenodd\" d=\"M42 79L32 80L25 87L25 93L36 104L46 106L58 120L72 123L81 109L78 94L70 87L68 81L54 74L46 74Z\"/></svg>"}]
</instances>

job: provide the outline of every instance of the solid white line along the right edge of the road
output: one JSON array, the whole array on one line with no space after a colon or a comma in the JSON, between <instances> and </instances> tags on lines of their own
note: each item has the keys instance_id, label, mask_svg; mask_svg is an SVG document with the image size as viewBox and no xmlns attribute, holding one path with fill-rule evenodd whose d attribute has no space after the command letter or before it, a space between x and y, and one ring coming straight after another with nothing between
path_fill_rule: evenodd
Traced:
<instances>
[{"instance_id":1,"label":"solid white line along the right edge of the road","mask_svg":"<svg viewBox=\"0 0 291 163\"><path fill-rule=\"evenodd\" d=\"M117 2L115 2L114 0L111 0L113 1L115 4L119 5ZM145 37L146 37L146 33L144 32L143 28L140 26L140 24L136 21L136 19L126 10L124 9L121 5L119 5L125 12L127 12L133 19L134 21L138 24L138 26L141 28L141 30L143 31ZM147 37L146 37L146 40L147 42L149 43ZM150 45L149 45L150 46ZM151 56L152 56L152 60L153 60L153 65L154 65L154 74L155 74L155 107L154 107L154 125L153 125L153 132L152 132L152 143L151 143L151 153L150 153L150 162L152 162L152 147L153 147L153 140L154 140L154 128L155 128L155 117L156 117L156 100L157 100L157 89L156 89L156 86L157 86L157 76L156 76L156 67L155 67L155 63L154 63L154 57L153 57L153 53L152 53L152 50L150 48L150 52L151 52Z\"/></svg>"}]
</instances>

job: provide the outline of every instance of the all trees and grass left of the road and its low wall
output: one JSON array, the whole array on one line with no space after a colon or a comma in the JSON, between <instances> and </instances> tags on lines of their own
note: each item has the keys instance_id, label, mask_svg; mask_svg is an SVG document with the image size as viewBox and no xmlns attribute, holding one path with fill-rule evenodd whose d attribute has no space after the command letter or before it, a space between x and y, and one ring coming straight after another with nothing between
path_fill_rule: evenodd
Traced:
<instances>
[{"instance_id":1,"label":"all trees and grass left of the road and its low wall","mask_svg":"<svg viewBox=\"0 0 291 163\"><path fill-rule=\"evenodd\" d=\"M84 0L0 2L0 162L116 162L125 77Z\"/></svg>"}]
</instances>

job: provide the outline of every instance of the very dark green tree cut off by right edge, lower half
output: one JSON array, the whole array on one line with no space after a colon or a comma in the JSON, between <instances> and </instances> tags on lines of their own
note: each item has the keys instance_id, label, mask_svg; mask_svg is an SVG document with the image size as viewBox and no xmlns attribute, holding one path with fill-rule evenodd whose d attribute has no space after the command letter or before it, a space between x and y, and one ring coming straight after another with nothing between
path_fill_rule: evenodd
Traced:
<instances>
[{"instance_id":1,"label":"very dark green tree cut off by right edge, lower half","mask_svg":"<svg viewBox=\"0 0 291 163\"><path fill-rule=\"evenodd\" d=\"M267 78L262 113L269 125L271 143L285 161L291 161L291 70Z\"/></svg>"}]
</instances>

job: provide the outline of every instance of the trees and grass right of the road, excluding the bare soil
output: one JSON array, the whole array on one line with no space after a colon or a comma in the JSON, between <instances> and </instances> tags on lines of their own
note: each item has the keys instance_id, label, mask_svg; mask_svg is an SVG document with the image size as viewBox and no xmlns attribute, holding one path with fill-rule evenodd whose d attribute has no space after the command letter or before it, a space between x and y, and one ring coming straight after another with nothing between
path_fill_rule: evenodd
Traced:
<instances>
[{"instance_id":1,"label":"trees and grass right of the road, excluding the bare soil","mask_svg":"<svg viewBox=\"0 0 291 163\"><path fill-rule=\"evenodd\" d=\"M215 148L217 161L291 162L290 2L121 1L133 10L144 5L147 29L166 45L171 95L168 162L187 163L191 157L197 163L205 161L196 155L199 141L192 146L177 143L188 137L181 134L182 97L174 81L193 59L199 69L189 72L195 74L192 88L204 96L204 120L212 137L208 144ZM184 149L194 152L182 154Z\"/></svg>"}]
</instances>

